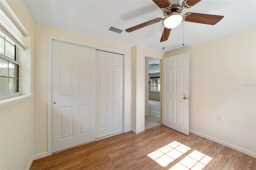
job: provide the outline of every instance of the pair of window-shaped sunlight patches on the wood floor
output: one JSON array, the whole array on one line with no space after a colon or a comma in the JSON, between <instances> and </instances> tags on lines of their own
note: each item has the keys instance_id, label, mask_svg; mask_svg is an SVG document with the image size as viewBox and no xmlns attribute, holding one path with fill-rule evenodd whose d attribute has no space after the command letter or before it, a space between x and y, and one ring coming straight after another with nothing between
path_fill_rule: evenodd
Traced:
<instances>
[{"instance_id":1,"label":"pair of window-shaped sunlight patches on the wood floor","mask_svg":"<svg viewBox=\"0 0 256 170\"><path fill-rule=\"evenodd\" d=\"M166 167L190 149L190 147L174 141L158 150L155 150L154 152L151 152L148 156L162 167ZM201 170L210 162L210 160L212 160L210 156L194 150L169 170Z\"/></svg>"}]
</instances>

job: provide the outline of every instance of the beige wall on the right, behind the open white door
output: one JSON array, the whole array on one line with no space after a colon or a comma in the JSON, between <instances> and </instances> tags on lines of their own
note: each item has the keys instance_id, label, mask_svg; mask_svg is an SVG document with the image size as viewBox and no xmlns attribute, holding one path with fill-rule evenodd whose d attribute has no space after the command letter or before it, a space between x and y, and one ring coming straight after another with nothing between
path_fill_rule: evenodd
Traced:
<instances>
[{"instance_id":1,"label":"beige wall on the right, behind the open white door","mask_svg":"<svg viewBox=\"0 0 256 170\"><path fill-rule=\"evenodd\" d=\"M165 56L185 52L190 131L256 157L256 28Z\"/></svg>"}]
</instances>

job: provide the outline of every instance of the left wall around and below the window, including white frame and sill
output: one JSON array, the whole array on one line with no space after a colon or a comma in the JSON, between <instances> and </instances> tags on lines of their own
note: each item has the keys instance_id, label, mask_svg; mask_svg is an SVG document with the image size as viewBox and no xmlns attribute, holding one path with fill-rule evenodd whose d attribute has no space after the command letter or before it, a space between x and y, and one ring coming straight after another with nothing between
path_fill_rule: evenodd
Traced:
<instances>
[{"instance_id":1,"label":"left wall around and below the window, including white frame and sill","mask_svg":"<svg viewBox=\"0 0 256 170\"><path fill-rule=\"evenodd\" d=\"M26 50L20 58L20 93L26 96L1 100L0 105L0 169L26 169L33 160L33 43L34 21L23 1L1 0L1 8L11 7L8 16L25 34ZM14 17L14 18L13 18ZM20 20L20 21L19 21ZM25 138L26 136L26 138Z\"/></svg>"}]
</instances>

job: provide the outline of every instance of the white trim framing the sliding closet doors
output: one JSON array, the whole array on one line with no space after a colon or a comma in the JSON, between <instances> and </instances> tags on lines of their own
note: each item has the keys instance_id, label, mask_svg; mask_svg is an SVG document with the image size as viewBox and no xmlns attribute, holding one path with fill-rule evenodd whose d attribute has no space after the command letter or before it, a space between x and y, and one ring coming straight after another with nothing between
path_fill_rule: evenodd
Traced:
<instances>
[{"instance_id":1,"label":"white trim framing the sliding closet doors","mask_svg":"<svg viewBox=\"0 0 256 170\"><path fill-rule=\"evenodd\" d=\"M91 44L91 43L86 43L86 42L80 42L77 40L70 40L68 38L62 38L58 36L53 36L53 35L48 35L48 82L47 82L47 128L48 128L48 140L47 140L47 150L48 152L46 156L52 155L52 41L57 40L61 42L66 42L66 43L71 43L75 45L80 45L84 47L89 47L89 48L94 48L102 51L108 51L112 53L119 53L123 54L125 57L126 51L120 50L120 49L113 49L110 47L104 47L101 45L96 45L96 44ZM124 70L125 72L125 70ZM125 91L125 89L124 89ZM123 97L124 99L124 97ZM123 105L125 107L125 105ZM125 112L124 112L124 117L126 117ZM125 120L124 120L125 121ZM126 123L124 122L124 125ZM126 129L126 127L124 127Z\"/></svg>"}]
</instances>

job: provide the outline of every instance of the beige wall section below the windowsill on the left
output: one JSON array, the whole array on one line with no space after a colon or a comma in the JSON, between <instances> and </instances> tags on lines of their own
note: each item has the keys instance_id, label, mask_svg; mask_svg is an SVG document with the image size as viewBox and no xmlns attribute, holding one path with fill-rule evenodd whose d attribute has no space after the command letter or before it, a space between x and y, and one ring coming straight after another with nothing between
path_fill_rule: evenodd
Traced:
<instances>
[{"instance_id":1,"label":"beige wall section below the windowsill on the left","mask_svg":"<svg viewBox=\"0 0 256 170\"><path fill-rule=\"evenodd\" d=\"M26 139L25 139L26 133ZM1 105L1 170L26 169L33 157L33 98Z\"/></svg>"}]
</instances>

